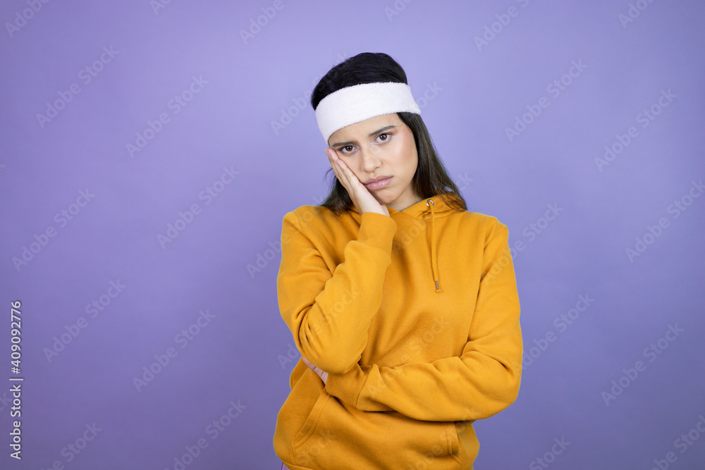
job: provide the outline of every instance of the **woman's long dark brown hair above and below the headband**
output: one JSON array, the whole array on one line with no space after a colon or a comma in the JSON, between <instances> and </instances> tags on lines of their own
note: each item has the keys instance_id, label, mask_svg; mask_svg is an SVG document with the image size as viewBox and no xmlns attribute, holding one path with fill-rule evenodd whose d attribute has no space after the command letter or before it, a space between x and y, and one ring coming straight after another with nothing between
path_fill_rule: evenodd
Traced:
<instances>
[{"instance_id":1,"label":"woman's long dark brown hair above and below the headband","mask_svg":"<svg viewBox=\"0 0 705 470\"><path fill-rule=\"evenodd\" d=\"M331 68L321 78L311 95L311 106L315 110L322 99L338 89L376 82L400 82L408 85L404 69L391 56L383 52L362 52ZM416 194L422 198L438 194L452 209L467 211L465 199L443 166L421 116L416 113L397 113L397 116L411 129L416 142L419 163L411 180ZM321 206L339 216L343 211L353 209L354 205L348 190L336 178L333 168L329 168L329 174L333 175L331 192Z\"/></svg>"}]
</instances>

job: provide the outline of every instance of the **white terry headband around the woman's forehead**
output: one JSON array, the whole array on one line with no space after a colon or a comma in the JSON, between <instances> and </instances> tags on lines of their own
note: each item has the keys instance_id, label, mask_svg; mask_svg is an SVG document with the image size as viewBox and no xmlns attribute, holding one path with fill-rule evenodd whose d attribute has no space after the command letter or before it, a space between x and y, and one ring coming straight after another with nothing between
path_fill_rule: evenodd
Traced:
<instances>
[{"instance_id":1,"label":"white terry headband around the woman's forehead","mask_svg":"<svg viewBox=\"0 0 705 470\"><path fill-rule=\"evenodd\" d=\"M316 108L316 120L327 144L333 132L347 125L382 114L403 112L421 114L409 85L401 82L361 83L338 89L321 99Z\"/></svg>"}]
</instances>

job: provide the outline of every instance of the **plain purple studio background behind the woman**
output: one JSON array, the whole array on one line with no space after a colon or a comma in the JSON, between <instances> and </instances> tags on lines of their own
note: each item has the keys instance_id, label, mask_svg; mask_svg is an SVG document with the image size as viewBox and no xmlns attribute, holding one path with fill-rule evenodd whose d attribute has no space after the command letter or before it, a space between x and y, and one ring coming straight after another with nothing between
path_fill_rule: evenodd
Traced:
<instances>
[{"instance_id":1,"label":"plain purple studio background behind the woman","mask_svg":"<svg viewBox=\"0 0 705 470\"><path fill-rule=\"evenodd\" d=\"M701 468L705 435L692 432L685 452L676 440L705 415L705 197L692 186L705 175L705 5L632 2L646 8L623 25L624 0L468 3L49 1L23 22L28 3L4 1L0 466L173 469L204 439L187 469L279 468L274 424L300 357L287 357L293 338L276 299L281 221L321 202L330 168L308 98L344 58L384 51L405 68L470 210L524 242L515 268L525 351L537 357L527 356L517 402L475 423L476 468L539 468L554 438L570 445L553 469L650 469L668 452L669 468ZM502 16L510 7L515 16ZM276 15L265 22L262 8ZM258 17L266 24L245 41ZM104 47L116 53L86 83L80 70ZM585 68L570 78L572 61ZM193 77L207 83L174 113L170 100ZM556 96L547 87L561 78L570 85ZM40 123L72 83L80 92ZM662 90L675 95L663 108ZM542 97L548 107L510 140L505 129ZM651 106L659 114L644 128ZM161 113L168 122L131 156L127 144L149 122L159 128ZM637 137L599 168L632 126ZM224 168L239 173L214 185ZM94 197L72 206L86 188ZM668 207L683 197L690 205L675 218ZM192 204L199 214L162 247L158 236ZM547 204L562 210L546 225ZM62 210L71 220L55 218ZM625 250L661 218L668 227L630 259ZM32 245L49 227L56 235ZM106 297L118 280L125 287ZM561 330L554 321L579 295L594 302ZM101 296L110 302L92 318L85 307ZM21 462L8 455L15 300ZM209 323L179 339L206 310ZM81 317L87 326L48 358ZM682 332L661 339L676 324ZM541 342L547 333L553 342ZM645 355L659 339L666 349ZM133 379L170 347L176 357L138 391ZM623 377L639 360L645 369ZM627 388L606 404L620 378ZM238 400L214 438L207 426ZM63 450L92 423L101 431L80 454Z\"/></svg>"}]
</instances>

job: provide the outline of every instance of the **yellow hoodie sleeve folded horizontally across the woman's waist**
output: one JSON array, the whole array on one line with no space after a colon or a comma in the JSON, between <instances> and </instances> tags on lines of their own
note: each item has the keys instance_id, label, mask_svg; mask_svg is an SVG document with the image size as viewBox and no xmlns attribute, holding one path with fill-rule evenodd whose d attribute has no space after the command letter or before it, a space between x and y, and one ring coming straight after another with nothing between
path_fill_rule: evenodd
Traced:
<instances>
[{"instance_id":1,"label":"yellow hoodie sleeve folded horizontally across the woman's waist","mask_svg":"<svg viewBox=\"0 0 705 470\"><path fill-rule=\"evenodd\" d=\"M498 224L484 247L477 302L459 357L395 367L355 364L346 373L331 373L326 390L362 411L396 410L424 421L488 418L519 392L519 314L508 230Z\"/></svg>"}]
</instances>

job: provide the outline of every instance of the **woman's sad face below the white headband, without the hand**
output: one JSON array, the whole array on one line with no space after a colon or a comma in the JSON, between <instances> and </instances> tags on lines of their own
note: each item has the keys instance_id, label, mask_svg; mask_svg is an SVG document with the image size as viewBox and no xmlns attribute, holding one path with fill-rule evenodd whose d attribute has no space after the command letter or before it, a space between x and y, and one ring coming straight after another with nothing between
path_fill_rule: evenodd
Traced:
<instances>
[{"instance_id":1,"label":"woman's sad face below the white headband, without the hand","mask_svg":"<svg viewBox=\"0 0 705 470\"><path fill-rule=\"evenodd\" d=\"M397 113L336 130L328 143L360 183L391 177L383 187L365 185L379 204L403 211L421 200L411 186L419 162L414 134Z\"/></svg>"}]
</instances>

